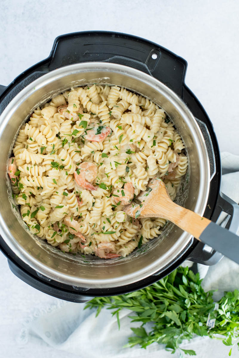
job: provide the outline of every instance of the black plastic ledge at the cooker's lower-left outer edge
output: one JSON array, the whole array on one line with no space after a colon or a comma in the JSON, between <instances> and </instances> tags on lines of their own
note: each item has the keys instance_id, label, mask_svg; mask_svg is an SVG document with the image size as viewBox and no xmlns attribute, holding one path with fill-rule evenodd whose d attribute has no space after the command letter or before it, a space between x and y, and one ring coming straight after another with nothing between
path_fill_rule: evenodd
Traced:
<instances>
[{"instance_id":1,"label":"black plastic ledge at the cooker's lower-left outer edge","mask_svg":"<svg viewBox=\"0 0 239 358\"><path fill-rule=\"evenodd\" d=\"M17 276L22 281L26 282L26 284L30 285L31 287L34 287L35 289L44 292L47 295L59 298L61 300L75 302L75 303L86 303L90 300L92 300L94 297L90 296L82 296L80 294L77 294L75 292L67 292L60 287L55 287L50 284L50 279L48 277L45 277L41 274L38 274L39 279L37 277L31 276L28 272L26 272L23 269L20 269L15 263L13 263L11 260L8 260L8 265L13 272L15 276ZM47 281L47 283L43 282Z\"/></svg>"}]
</instances>

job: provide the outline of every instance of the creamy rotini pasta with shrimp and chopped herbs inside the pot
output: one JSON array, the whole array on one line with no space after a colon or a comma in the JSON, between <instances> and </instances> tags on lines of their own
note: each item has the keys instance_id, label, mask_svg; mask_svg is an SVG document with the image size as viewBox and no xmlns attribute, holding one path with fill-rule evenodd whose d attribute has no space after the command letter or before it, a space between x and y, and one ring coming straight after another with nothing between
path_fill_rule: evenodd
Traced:
<instances>
[{"instance_id":1,"label":"creamy rotini pasta with shrimp and chopped herbs inside the pot","mask_svg":"<svg viewBox=\"0 0 239 358\"><path fill-rule=\"evenodd\" d=\"M34 110L8 172L31 233L64 252L125 257L166 223L133 219L125 205L148 195L155 177L174 200L187 171L184 148L164 110L148 98L93 84Z\"/></svg>"}]
</instances>

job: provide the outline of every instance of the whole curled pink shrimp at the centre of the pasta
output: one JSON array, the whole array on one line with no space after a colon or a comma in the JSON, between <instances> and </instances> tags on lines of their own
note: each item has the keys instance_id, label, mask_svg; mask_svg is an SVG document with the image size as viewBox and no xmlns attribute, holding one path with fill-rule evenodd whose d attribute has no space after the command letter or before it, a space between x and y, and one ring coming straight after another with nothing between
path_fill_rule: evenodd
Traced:
<instances>
[{"instance_id":1,"label":"whole curled pink shrimp at the centre of the pasta","mask_svg":"<svg viewBox=\"0 0 239 358\"><path fill-rule=\"evenodd\" d=\"M81 163L78 168L80 169L79 174L77 171L74 172L75 181L77 184L87 190L97 190L91 183L97 177L97 166L93 163L89 163L88 161L84 161Z\"/></svg>"}]
</instances>

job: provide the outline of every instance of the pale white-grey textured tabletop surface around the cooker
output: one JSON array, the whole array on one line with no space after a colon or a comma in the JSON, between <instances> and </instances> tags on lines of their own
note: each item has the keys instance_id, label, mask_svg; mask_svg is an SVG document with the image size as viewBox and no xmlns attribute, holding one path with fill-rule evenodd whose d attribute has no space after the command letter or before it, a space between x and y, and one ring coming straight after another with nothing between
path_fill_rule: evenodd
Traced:
<instances>
[{"instance_id":1,"label":"pale white-grey textured tabletop surface around the cooker","mask_svg":"<svg viewBox=\"0 0 239 358\"><path fill-rule=\"evenodd\" d=\"M137 35L186 59L186 84L208 112L220 150L238 154L238 17L238 0L1 0L0 84L48 57L58 35L86 30ZM0 272L0 356L73 358L40 341L24 347L15 342L24 318L54 299L11 274L3 255ZM215 356L225 353L219 348Z\"/></svg>"}]
</instances>

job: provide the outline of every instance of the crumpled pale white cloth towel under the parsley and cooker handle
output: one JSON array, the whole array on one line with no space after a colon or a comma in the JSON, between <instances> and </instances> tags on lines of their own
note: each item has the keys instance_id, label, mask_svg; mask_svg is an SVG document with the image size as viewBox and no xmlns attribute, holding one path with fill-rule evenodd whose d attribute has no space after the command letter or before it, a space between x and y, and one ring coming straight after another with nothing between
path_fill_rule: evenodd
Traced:
<instances>
[{"instance_id":1,"label":"crumpled pale white cloth towel under the parsley and cooker handle","mask_svg":"<svg viewBox=\"0 0 239 358\"><path fill-rule=\"evenodd\" d=\"M239 156L222 153L223 178L221 189L224 194L239 203ZM205 290L218 289L215 300L220 299L224 290L239 288L239 266L223 258L215 266L198 265L201 275L205 276ZM172 357L163 345L153 343L142 349L139 347L122 348L127 338L132 335L130 327L139 326L128 318L130 311L120 311L121 328L118 330L116 316L111 311L102 309L96 318L96 310L84 310L84 304L70 303L53 299L54 304L47 309L37 309L23 324L18 342L27 344L29 340L43 340L56 349L64 350L79 358L166 358ZM146 326L147 329L147 326ZM203 344L202 341L203 340ZM196 337L190 343L183 344L184 349L197 350L198 357L210 357L215 354L215 344L207 337ZM224 349L221 343L221 354ZM225 350L227 352L227 350Z\"/></svg>"}]
</instances>

